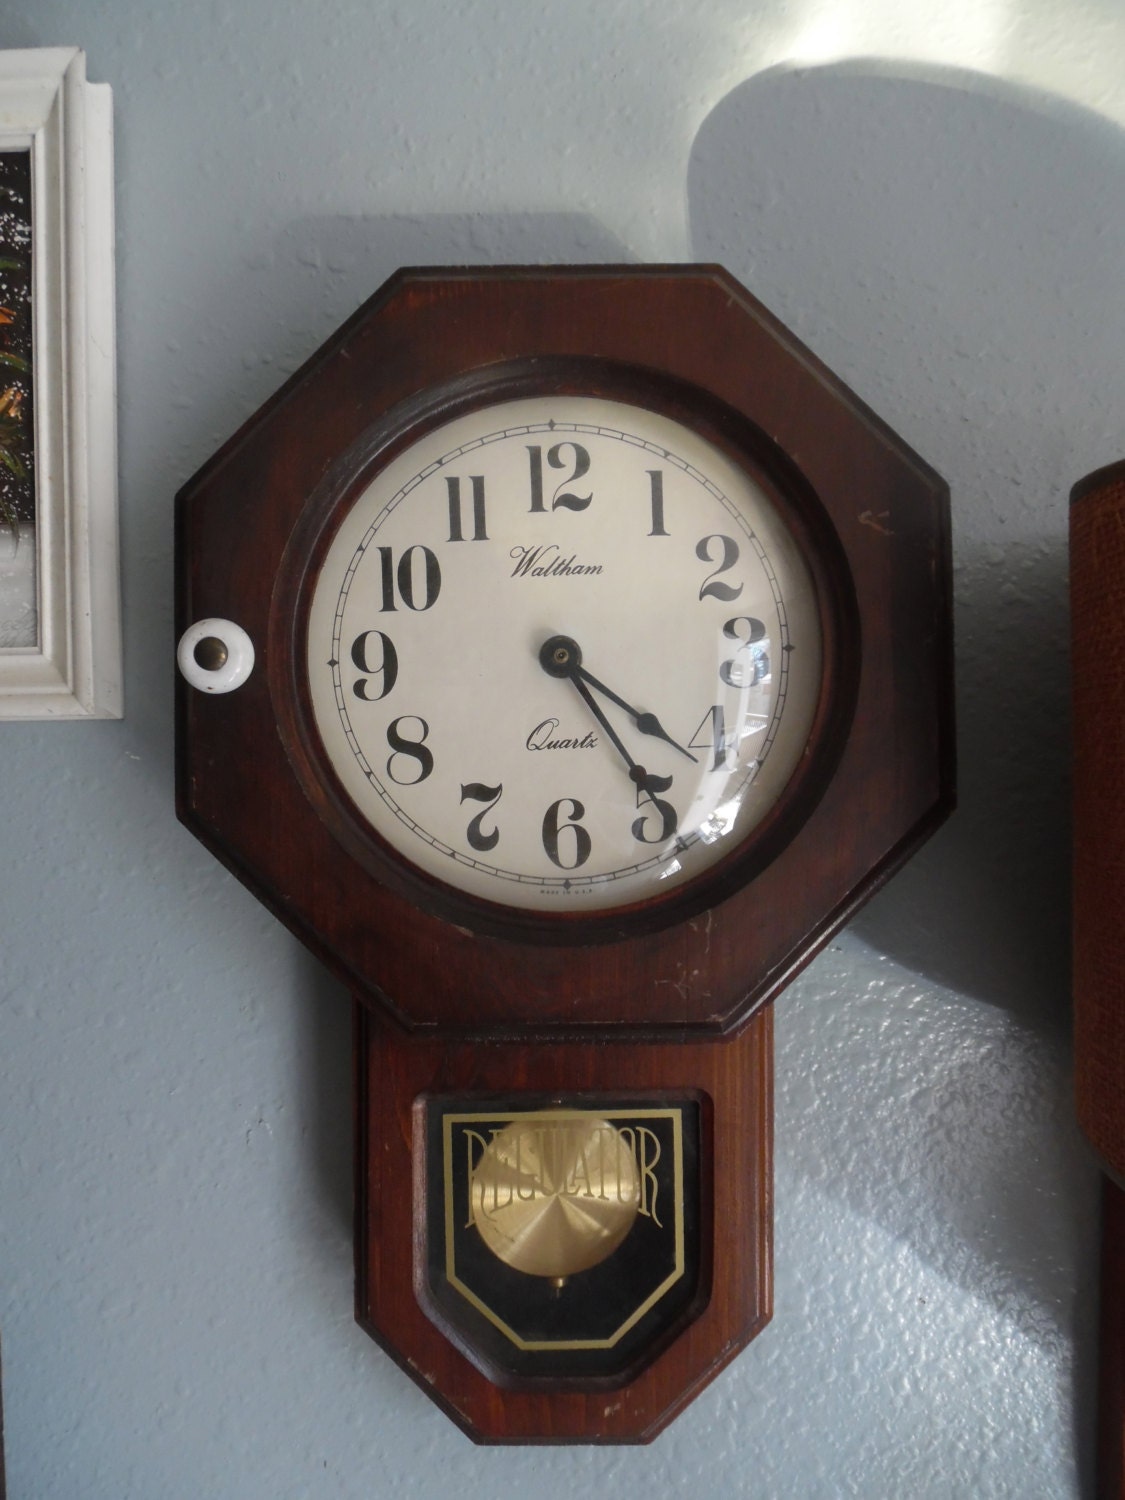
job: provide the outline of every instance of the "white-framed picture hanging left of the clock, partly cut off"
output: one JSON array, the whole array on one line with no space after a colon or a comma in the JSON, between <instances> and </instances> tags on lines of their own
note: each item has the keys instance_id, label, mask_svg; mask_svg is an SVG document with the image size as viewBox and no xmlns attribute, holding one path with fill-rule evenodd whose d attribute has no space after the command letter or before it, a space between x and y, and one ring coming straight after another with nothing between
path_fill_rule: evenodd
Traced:
<instances>
[{"instance_id":1,"label":"white-framed picture hanging left of the clock, partly cut off","mask_svg":"<svg viewBox=\"0 0 1125 1500\"><path fill-rule=\"evenodd\" d=\"M112 98L0 51L0 718L120 718Z\"/></svg>"}]
</instances>

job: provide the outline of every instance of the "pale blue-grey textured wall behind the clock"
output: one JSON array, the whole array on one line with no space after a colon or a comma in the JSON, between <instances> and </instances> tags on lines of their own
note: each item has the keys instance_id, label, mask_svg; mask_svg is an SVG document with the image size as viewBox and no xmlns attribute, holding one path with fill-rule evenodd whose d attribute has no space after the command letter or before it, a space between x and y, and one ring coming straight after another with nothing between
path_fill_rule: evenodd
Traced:
<instances>
[{"instance_id":1,"label":"pale blue-grey textured wall behind the clock","mask_svg":"<svg viewBox=\"0 0 1125 1500\"><path fill-rule=\"evenodd\" d=\"M1065 496L1125 442L1124 140L748 76L774 12L4 8L116 93L128 669L0 726L14 1500L1089 1492ZM478 1450L351 1320L345 996L172 818L171 500L398 264L687 256L952 484L962 810L778 1004L772 1324L650 1449Z\"/></svg>"}]
</instances>

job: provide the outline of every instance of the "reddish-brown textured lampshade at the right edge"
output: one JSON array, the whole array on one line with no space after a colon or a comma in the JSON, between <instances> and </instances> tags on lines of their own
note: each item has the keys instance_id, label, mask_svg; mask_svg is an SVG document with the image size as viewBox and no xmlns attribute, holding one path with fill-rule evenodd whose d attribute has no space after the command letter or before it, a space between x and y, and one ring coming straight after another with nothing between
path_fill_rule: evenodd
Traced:
<instances>
[{"instance_id":1,"label":"reddish-brown textured lampshade at the right edge","mask_svg":"<svg viewBox=\"0 0 1125 1500\"><path fill-rule=\"evenodd\" d=\"M1071 492L1078 1124L1125 1176L1125 462Z\"/></svg>"}]
</instances>

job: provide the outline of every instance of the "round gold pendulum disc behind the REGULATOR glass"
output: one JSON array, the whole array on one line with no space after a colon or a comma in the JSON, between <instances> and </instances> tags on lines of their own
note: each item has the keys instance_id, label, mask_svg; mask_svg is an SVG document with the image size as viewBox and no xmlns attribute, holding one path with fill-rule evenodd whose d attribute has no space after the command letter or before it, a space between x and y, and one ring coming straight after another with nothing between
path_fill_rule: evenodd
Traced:
<instances>
[{"instance_id":1,"label":"round gold pendulum disc behind the REGULATOR glass","mask_svg":"<svg viewBox=\"0 0 1125 1500\"><path fill-rule=\"evenodd\" d=\"M636 1156L608 1120L528 1113L472 1170L472 1222L506 1266L562 1282L612 1256L640 1204Z\"/></svg>"}]
</instances>

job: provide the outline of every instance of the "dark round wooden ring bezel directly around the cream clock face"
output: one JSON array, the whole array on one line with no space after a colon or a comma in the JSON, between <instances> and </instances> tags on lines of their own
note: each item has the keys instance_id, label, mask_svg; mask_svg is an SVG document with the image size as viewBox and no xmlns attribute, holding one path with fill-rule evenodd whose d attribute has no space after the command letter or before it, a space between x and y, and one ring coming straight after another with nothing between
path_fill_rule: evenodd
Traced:
<instances>
[{"instance_id":1,"label":"dark round wooden ring bezel directly around the cream clock face","mask_svg":"<svg viewBox=\"0 0 1125 1500\"><path fill-rule=\"evenodd\" d=\"M435 428L524 396L597 396L690 428L766 492L808 568L822 669L807 748L782 795L722 861L684 885L609 910L536 912L483 900L414 866L364 820L344 790L315 724L304 668L312 594L332 540L356 500L399 453ZM294 526L270 610L270 686L278 730L304 795L336 840L375 880L436 916L516 942L590 945L657 932L717 906L752 880L798 832L828 784L848 736L860 675L860 621L836 531L800 470L741 412L663 370L598 357L486 366L426 390L380 417L333 464Z\"/></svg>"}]
</instances>

